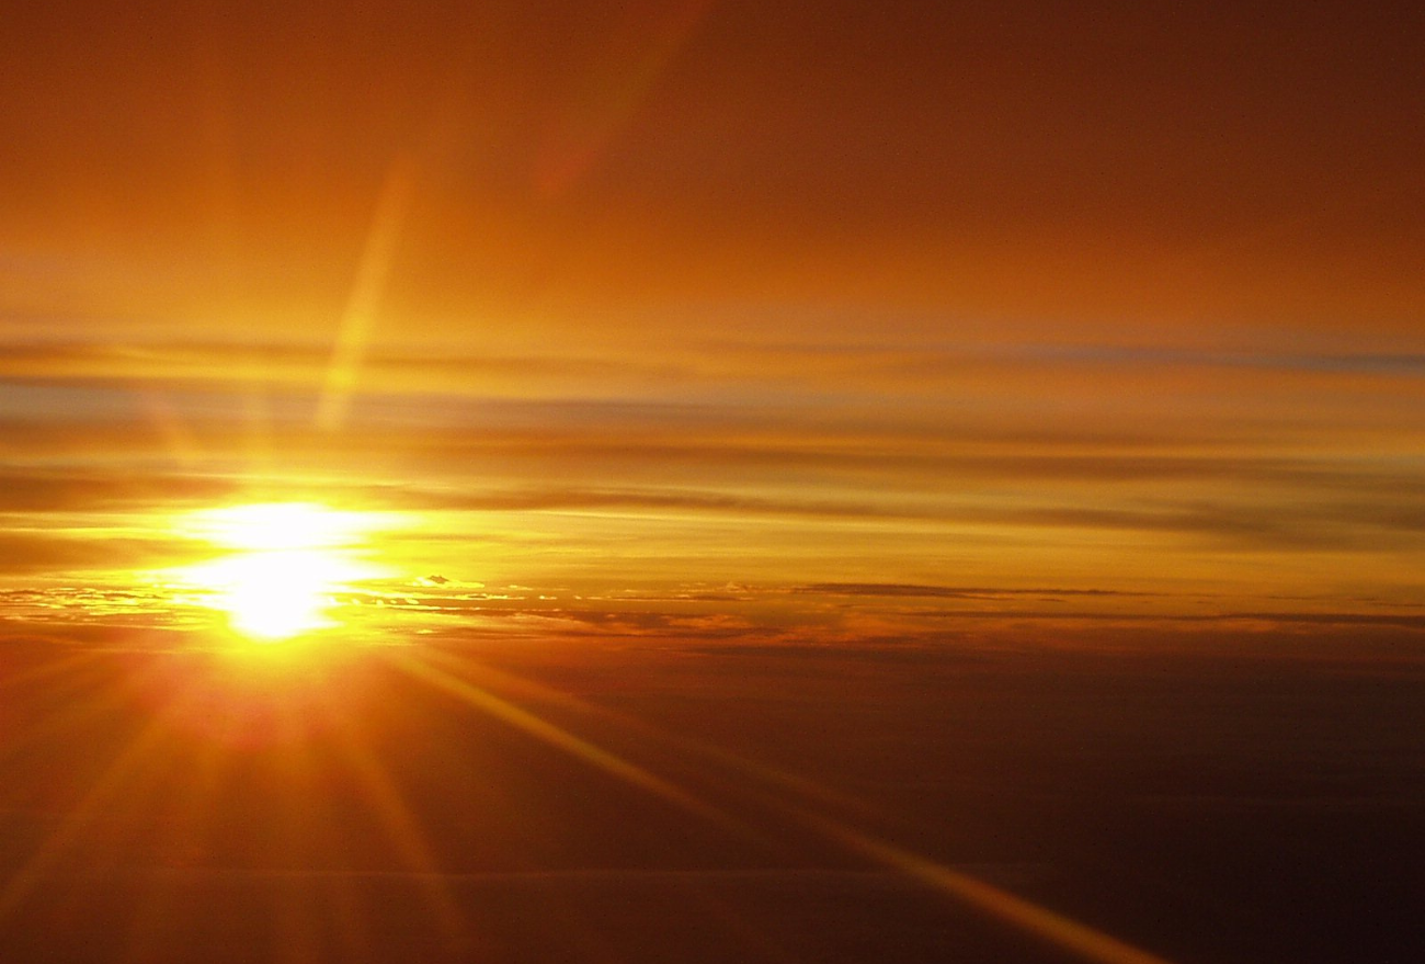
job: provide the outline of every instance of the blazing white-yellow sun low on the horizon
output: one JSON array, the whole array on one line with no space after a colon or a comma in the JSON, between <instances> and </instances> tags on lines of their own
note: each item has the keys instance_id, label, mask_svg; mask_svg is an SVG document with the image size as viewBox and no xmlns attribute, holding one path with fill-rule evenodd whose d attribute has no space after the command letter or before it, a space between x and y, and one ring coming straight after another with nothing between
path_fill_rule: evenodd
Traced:
<instances>
[{"instance_id":1,"label":"blazing white-yellow sun low on the horizon","mask_svg":"<svg viewBox=\"0 0 1425 964\"><path fill-rule=\"evenodd\" d=\"M353 580L382 575L363 553L366 535L382 525L380 513L309 502L194 512L177 528L229 552L187 568L184 582L238 636L285 642L338 625L333 596Z\"/></svg>"}]
</instances>

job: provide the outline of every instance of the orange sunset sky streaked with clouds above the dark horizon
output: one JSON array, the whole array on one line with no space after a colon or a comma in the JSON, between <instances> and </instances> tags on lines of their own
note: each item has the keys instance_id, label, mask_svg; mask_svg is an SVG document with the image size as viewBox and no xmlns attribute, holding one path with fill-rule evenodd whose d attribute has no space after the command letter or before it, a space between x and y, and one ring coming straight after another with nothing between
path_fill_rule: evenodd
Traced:
<instances>
[{"instance_id":1,"label":"orange sunset sky streaked with clouds above the dark horizon","mask_svg":"<svg viewBox=\"0 0 1425 964\"><path fill-rule=\"evenodd\" d=\"M11 633L299 502L393 632L1414 637L1421 17L27 4Z\"/></svg>"}]
</instances>

